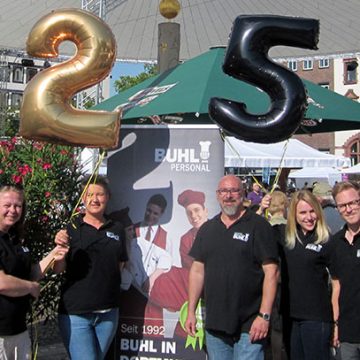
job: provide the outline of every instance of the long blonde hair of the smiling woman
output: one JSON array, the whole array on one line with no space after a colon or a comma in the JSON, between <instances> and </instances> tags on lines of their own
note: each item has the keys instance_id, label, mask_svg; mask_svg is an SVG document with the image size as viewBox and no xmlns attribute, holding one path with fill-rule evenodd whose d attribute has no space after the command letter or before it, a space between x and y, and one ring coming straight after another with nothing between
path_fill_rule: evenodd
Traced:
<instances>
[{"instance_id":1,"label":"long blonde hair of the smiling woman","mask_svg":"<svg viewBox=\"0 0 360 360\"><path fill-rule=\"evenodd\" d=\"M300 200L307 202L315 211L317 216L315 233L316 241L315 244L324 244L329 240L329 229L325 221L323 210L320 206L320 203L308 190L300 190L293 194L288 211L287 224L285 230L285 245L289 249L295 247L296 241L301 242L298 231L297 231L297 222L296 222L296 207Z\"/></svg>"}]
</instances>

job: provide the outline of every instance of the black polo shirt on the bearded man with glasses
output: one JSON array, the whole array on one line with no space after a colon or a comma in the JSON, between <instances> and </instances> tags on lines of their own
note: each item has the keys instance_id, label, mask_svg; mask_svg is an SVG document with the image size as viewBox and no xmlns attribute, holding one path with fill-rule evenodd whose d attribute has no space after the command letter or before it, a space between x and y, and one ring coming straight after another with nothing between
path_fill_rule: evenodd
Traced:
<instances>
[{"instance_id":1,"label":"black polo shirt on the bearded man with glasses","mask_svg":"<svg viewBox=\"0 0 360 360\"><path fill-rule=\"evenodd\" d=\"M219 214L199 229L189 254L205 266L206 329L249 331L261 304L262 264L278 261L271 225L246 211L227 229Z\"/></svg>"}]
</instances>

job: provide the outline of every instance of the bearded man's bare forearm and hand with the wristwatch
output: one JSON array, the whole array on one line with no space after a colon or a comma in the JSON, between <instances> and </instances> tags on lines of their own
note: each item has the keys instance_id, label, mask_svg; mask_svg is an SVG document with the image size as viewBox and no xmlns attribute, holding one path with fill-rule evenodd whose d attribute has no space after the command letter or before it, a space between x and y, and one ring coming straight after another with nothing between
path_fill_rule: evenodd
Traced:
<instances>
[{"instance_id":1,"label":"bearded man's bare forearm and hand with the wristwatch","mask_svg":"<svg viewBox=\"0 0 360 360\"><path fill-rule=\"evenodd\" d=\"M273 303L276 296L277 284L279 279L279 270L276 263L264 263L264 282L262 288L262 299L259 312L271 314ZM264 339L269 331L270 321L257 316L250 328L250 340L252 342Z\"/></svg>"}]
</instances>

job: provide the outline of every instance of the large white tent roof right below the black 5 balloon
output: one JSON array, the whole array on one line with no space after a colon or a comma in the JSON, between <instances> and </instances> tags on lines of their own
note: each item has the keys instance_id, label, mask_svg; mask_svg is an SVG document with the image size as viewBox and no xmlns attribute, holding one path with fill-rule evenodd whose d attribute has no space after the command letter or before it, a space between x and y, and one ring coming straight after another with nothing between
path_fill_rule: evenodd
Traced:
<instances>
[{"instance_id":1,"label":"large white tent roof right below the black 5 balloon","mask_svg":"<svg viewBox=\"0 0 360 360\"><path fill-rule=\"evenodd\" d=\"M281 159L283 161L281 163ZM225 138L225 167L344 167L350 159L318 151L296 139L275 144L245 142Z\"/></svg>"}]
</instances>

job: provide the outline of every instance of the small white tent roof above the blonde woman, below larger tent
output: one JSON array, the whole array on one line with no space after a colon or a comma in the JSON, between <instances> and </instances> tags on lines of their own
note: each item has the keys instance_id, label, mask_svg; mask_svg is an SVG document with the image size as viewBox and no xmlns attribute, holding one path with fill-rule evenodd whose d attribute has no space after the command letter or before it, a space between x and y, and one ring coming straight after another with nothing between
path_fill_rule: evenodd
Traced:
<instances>
[{"instance_id":1,"label":"small white tent roof above the blonde woman, below larger tent","mask_svg":"<svg viewBox=\"0 0 360 360\"><path fill-rule=\"evenodd\" d=\"M340 170L333 167L305 167L290 172L289 178L296 181L298 188L302 188L305 182L311 186L314 181L325 181L333 186L336 181L342 180L342 175Z\"/></svg>"}]
</instances>

